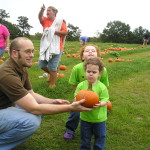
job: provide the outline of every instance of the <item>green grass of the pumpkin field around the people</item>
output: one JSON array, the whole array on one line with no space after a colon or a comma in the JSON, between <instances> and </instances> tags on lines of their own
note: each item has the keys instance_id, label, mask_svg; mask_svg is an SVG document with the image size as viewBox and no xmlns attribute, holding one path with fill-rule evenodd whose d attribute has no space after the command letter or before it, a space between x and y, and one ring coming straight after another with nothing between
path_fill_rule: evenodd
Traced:
<instances>
[{"instance_id":1,"label":"green grass of the pumpkin field around the people","mask_svg":"<svg viewBox=\"0 0 150 150\"><path fill-rule=\"evenodd\" d=\"M113 109L107 120L106 150L150 150L150 46L137 48L138 44L94 43L103 51L113 47L135 48L119 51L125 62L109 63L108 58L115 57L111 53L102 55L109 74L109 94ZM35 49L39 42L34 41ZM74 48L74 50L72 50ZM65 52L75 53L80 49L79 42L66 42ZM110 51L111 52L111 51ZM34 61L39 52L35 52ZM6 56L7 57L7 56ZM132 62L126 60L131 59ZM39 79L43 71L38 65L29 69L29 75L35 92L50 98L73 100L73 91L68 84L72 67L79 63L79 58L62 56L60 64L67 66L64 78L58 78L57 88L49 89L46 78ZM77 129L73 141L65 141L65 123L69 112L45 116L39 130L14 150L78 150L80 131Z\"/></svg>"}]
</instances>

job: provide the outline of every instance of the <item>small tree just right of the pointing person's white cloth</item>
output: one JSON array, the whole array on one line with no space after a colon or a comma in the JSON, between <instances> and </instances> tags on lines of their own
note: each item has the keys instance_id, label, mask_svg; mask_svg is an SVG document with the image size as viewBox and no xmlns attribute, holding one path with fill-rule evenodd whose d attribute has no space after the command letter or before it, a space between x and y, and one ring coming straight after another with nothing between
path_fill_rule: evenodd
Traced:
<instances>
[{"instance_id":1,"label":"small tree just right of the pointing person's white cloth","mask_svg":"<svg viewBox=\"0 0 150 150\"><path fill-rule=\"evenodd\" d=\"M66 37L67 41L78 41L81 35L81 30L79 27L75 27L72 24L68 24L68 35Z\"/></svg>"}]
</instances>

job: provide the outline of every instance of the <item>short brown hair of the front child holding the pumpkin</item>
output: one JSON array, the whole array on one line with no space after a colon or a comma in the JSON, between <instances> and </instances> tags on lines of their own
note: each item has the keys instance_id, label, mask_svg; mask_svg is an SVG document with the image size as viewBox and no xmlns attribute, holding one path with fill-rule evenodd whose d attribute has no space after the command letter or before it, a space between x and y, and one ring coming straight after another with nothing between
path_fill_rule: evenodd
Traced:
<instances>
[{"instance_id":1,"label":"short brown hair of the front child holding the pumpkin","mask_svg":"<svg viewBox=\"0 0 150 150\"><path fill-rule=\"evenodd\" d=\"M84 64L84 69L86 70L87 68L87 65L97 65L98 68L99 68L99 72L102 72L103 69L104 69L104 65L102 63L102 61L100 61L100 59L98 57L95 57L95 58L89 58L85 61L85 64Z\"/></svg>"}]
</instances>

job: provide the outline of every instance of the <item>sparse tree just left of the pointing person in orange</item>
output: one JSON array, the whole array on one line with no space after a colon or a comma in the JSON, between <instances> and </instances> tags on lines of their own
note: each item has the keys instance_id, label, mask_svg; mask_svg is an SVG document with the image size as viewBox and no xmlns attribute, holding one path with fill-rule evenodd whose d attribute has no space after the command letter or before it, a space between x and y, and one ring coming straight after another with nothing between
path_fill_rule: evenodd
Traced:
<instances>
[{"instance_id":1,"label":"sparse tree just left of the pointing person in orange","mask_svg":"<svg viewBox=\"0 0 150 150\"><path fill-rule=\"evenodd\" d=\"M30 29L33 28L28 24L28 18L20 16L17 21L19 22L17 26L20 28L22 36L28 36Z\"/></svg>"}]
</instances>

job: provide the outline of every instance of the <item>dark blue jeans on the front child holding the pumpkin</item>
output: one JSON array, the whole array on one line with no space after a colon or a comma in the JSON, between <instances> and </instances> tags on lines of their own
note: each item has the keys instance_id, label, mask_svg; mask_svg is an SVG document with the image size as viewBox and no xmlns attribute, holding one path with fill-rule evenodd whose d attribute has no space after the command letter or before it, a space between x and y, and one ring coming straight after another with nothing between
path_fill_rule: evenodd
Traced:
<instances>
[{"instance_id":1,"label":"dark blue jeans on the front child holding the pumpkin","mask_svg":"<svg viewBox=\"0 0 150 150\"><path fill-rule=\"evenodd\" d=\"M80 150L91 150L92 136L94 136L93 150L104 150L106 141L106 121L91 123L81 120L80 134Z\"/></svg>"}]
</instances>

